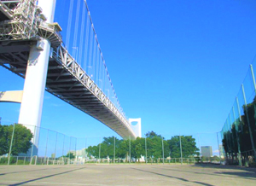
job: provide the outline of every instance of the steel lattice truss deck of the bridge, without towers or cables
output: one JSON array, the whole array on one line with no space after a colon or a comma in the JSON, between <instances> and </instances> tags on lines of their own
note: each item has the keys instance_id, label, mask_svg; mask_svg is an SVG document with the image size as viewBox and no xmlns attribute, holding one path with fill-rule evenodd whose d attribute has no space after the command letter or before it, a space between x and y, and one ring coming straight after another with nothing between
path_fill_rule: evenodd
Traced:
<instances>
[{"instance_id":1,"label":"steel lattice truss deck of the bridge, without towers or cables","mask_svg":"<svg viewBox=\"0 0 256 186\"><path fill-rule=\"evenodd\" d=\"M108 125L121 137L136 135L119 111L62 45L61 26L45 22L37 0L0 1L0 65L25 78L30 46L49 39L49 93ZM32 65L32 64L29 64Z\"/></svg>"}]
</instances>

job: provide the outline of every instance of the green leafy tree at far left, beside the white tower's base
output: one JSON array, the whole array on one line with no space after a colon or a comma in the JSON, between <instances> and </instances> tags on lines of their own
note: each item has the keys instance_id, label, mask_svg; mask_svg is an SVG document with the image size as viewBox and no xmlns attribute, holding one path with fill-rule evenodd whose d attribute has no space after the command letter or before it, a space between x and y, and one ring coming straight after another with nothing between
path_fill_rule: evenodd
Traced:
<instances>
[{"instance_id":1,"label":"green leafy tree at far left, beside the white tower's base","mask_svg":"<svg viewBox=\"0 0 256 186\"><path fill-rule=\"evenodd\" d=\"M8 154L14 125L0 125L0 155ZM12 155L26 154L32 146L32 132L24 125L15 125Z\"/></svg>"}]
</instances>

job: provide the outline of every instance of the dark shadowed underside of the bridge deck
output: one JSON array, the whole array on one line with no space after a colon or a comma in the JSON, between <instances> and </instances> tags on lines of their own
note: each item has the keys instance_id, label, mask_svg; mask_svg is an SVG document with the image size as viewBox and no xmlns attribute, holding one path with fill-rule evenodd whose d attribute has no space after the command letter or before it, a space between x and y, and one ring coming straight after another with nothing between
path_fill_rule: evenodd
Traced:
<instances>
[{"instance_id":1,"label":"dark shadowed underside of the bridge deck","mask_svg":"<svg viewBox=\"0 0 256 186\"><path fill-rule=\"evenodd\" d=\"M0 65L25 78L31 41L0 44ZM84 113L108 125L121 137L131 134L122 121L106 107L79 79L68 72L67 68L55 59L49 58L46 90L61 100L73 105ZM86 124L86 121L84 121Z\"/></svg>"}]
</instances>

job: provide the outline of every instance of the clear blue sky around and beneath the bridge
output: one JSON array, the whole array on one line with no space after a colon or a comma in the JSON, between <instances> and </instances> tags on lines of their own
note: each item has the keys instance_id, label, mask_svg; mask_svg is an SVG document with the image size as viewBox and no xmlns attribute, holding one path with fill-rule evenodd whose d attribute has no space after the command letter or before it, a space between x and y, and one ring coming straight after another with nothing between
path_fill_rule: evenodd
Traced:
<instances>
[{"instance_id":1,"label":"clear blue sky around and beneath the bridge","mask_svg":"<svg viewBox=\"0 0 256 186\"><path fill-rule=\"evenodd\" d=\"M128 118L165 137L220 131L256 54L256 2L88 0L108 72ZM0 67L0 90L24 79ZM1 103L3 124L20 105ZM112 136L96 119L45 94L41 126Z\"/></svg>"}]
</instances>

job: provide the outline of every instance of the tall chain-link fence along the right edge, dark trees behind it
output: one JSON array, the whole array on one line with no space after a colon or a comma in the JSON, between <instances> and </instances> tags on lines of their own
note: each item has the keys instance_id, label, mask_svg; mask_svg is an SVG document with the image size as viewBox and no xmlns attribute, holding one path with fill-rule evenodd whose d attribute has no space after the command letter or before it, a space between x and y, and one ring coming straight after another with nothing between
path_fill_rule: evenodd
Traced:
<instances>
[{"instance_id":1,"label":"tall chain-link fence along the right edge, dark trees behind it","mask_svg":"<svg viewBox=\"0 0 256 186\"><path fill-rule=\"evenodd\" d=\"M255 63L253 61L253 63ZM250 65L230 113L219 132L221 151L226 163L256 166L256 84Z\"/></svg>"}]
</instances>

